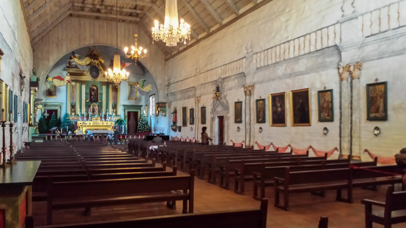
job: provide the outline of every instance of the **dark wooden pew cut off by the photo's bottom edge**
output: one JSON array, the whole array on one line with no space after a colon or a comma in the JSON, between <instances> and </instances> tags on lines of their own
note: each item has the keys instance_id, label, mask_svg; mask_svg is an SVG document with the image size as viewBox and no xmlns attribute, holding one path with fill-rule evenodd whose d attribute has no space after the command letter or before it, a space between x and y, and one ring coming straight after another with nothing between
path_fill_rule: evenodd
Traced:
<instances>
[{"instance_id":1,"label":"dark wooden pew cut off by the photo's bottom edge","mask_svg":"<svg viewBox=\"0 0 406 228\"><path fill-rule=\"evenodd\" d=\"M267 209L268 200L263 199L260 209L255 210L176 214L79 224L36 226L36 228L266 228ZM26 217L25 228L34 228L32 216ZM327 228L327 226L319 226L319 228Z\"/></svg>"}]
</instances>

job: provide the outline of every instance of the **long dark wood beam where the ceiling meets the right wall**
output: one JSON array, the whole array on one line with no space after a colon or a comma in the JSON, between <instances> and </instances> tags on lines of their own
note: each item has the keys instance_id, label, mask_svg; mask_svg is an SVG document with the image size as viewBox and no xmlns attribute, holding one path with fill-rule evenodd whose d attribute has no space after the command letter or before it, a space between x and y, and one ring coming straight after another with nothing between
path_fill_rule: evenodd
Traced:
<instances>
[{"instance_id":1,"label":"long dark wood beam where the ceiling meets the right wall","mask_svg":"<svg viewBox=\"0 0 406 228\"><path fill-rule=\"evenodd\" d=\"M239 16L234 17L233 19L231 19L230 21L228 21L227 23L219 26L218 28L216 28L215 30L213 30L212 32L210 32L209 34L207 34L206 36L202 37L201 39L195 41L194 43L188 45L185 49L178 51L177 53L171 55L170 57L166 58L165 61L171 60L173 58L175 58L176 56L182 54L183 52L191 49L192 47L196 46L197 44L199 44L200 42L208 39L210 36L216 34L217 32L223 30L224 28L234 24L236 21L242 19L243 17L247 16L248 14L258 10L259 8L265 6L266 4L272 2L273 0L263 0L262 2L254 5L253 7L251 7L250 9L248 9L247 11L245 11L244 13L240 14Z\"/></svg>"}]
</instances>

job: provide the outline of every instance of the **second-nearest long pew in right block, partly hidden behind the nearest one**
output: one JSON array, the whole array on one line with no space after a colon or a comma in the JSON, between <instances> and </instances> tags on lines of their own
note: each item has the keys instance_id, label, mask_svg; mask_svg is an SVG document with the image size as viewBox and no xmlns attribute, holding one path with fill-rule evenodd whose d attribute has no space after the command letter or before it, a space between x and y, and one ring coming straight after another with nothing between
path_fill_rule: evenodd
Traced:
<instances>
[{"instance_id":1,"label":"second-nearest long pew in right block, partly hidden behind the nearest one","mask_svg":"<svg viewBox=\"0 0 406 228\"><path fill-rule=\"evenodd\" d=\"M377 159L373 162L359 162L359 163L343 163L343 164L325 164L321 165L301 165L290 166L291 172L298 171L311 171L311 170L325 170L325 169L342 169L349 168L350 166L357 167L370 167L377 166ZM265 198L265 187L274 186L274 177L283 178L285 174L285 166L277 167L262 167L261 172L253 172L253 198L260 200L261 197ZM258 197L258 189L260 190L260 197ZM324 195L322 193L321 195Z\"/></svg>"}]
</instances>

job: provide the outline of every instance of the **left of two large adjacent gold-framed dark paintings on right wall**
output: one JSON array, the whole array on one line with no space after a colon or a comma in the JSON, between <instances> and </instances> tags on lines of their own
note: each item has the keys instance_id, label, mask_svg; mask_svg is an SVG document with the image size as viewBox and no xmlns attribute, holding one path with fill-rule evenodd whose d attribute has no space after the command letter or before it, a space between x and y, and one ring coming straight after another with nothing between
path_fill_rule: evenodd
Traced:
<instances>
[{"instance_id":1,"label":"left of two large adjacent gold-framed dark paintings on right wall","mask_svg":"<svg viewBox=\"0 0 406 228\"><path fill-rule=\"evenodd\" d=\"M286 93L275 93L269 95L270 125L286 126Z\"/></svg>"}]
</instances>

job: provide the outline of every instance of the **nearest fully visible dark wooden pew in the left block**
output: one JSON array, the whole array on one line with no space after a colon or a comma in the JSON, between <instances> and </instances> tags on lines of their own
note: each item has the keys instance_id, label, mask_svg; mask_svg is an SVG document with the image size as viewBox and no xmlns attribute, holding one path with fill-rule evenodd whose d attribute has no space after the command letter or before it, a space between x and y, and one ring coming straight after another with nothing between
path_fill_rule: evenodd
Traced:
<instances>
[{"instance_id":1,"label":"nearest fully visible dark wooden pew in the left block","mask_svg":"<svg viewBox=\"0 0 406 228\"><path fill-rule=\"evenodd\" d=\"M134 203L183 201L183 213L193 213L194 171L190 176L53 182L49 177L47 224L52 211ZM189 210L188 210L189 203Z\"/></svg>"}]
</instances>

